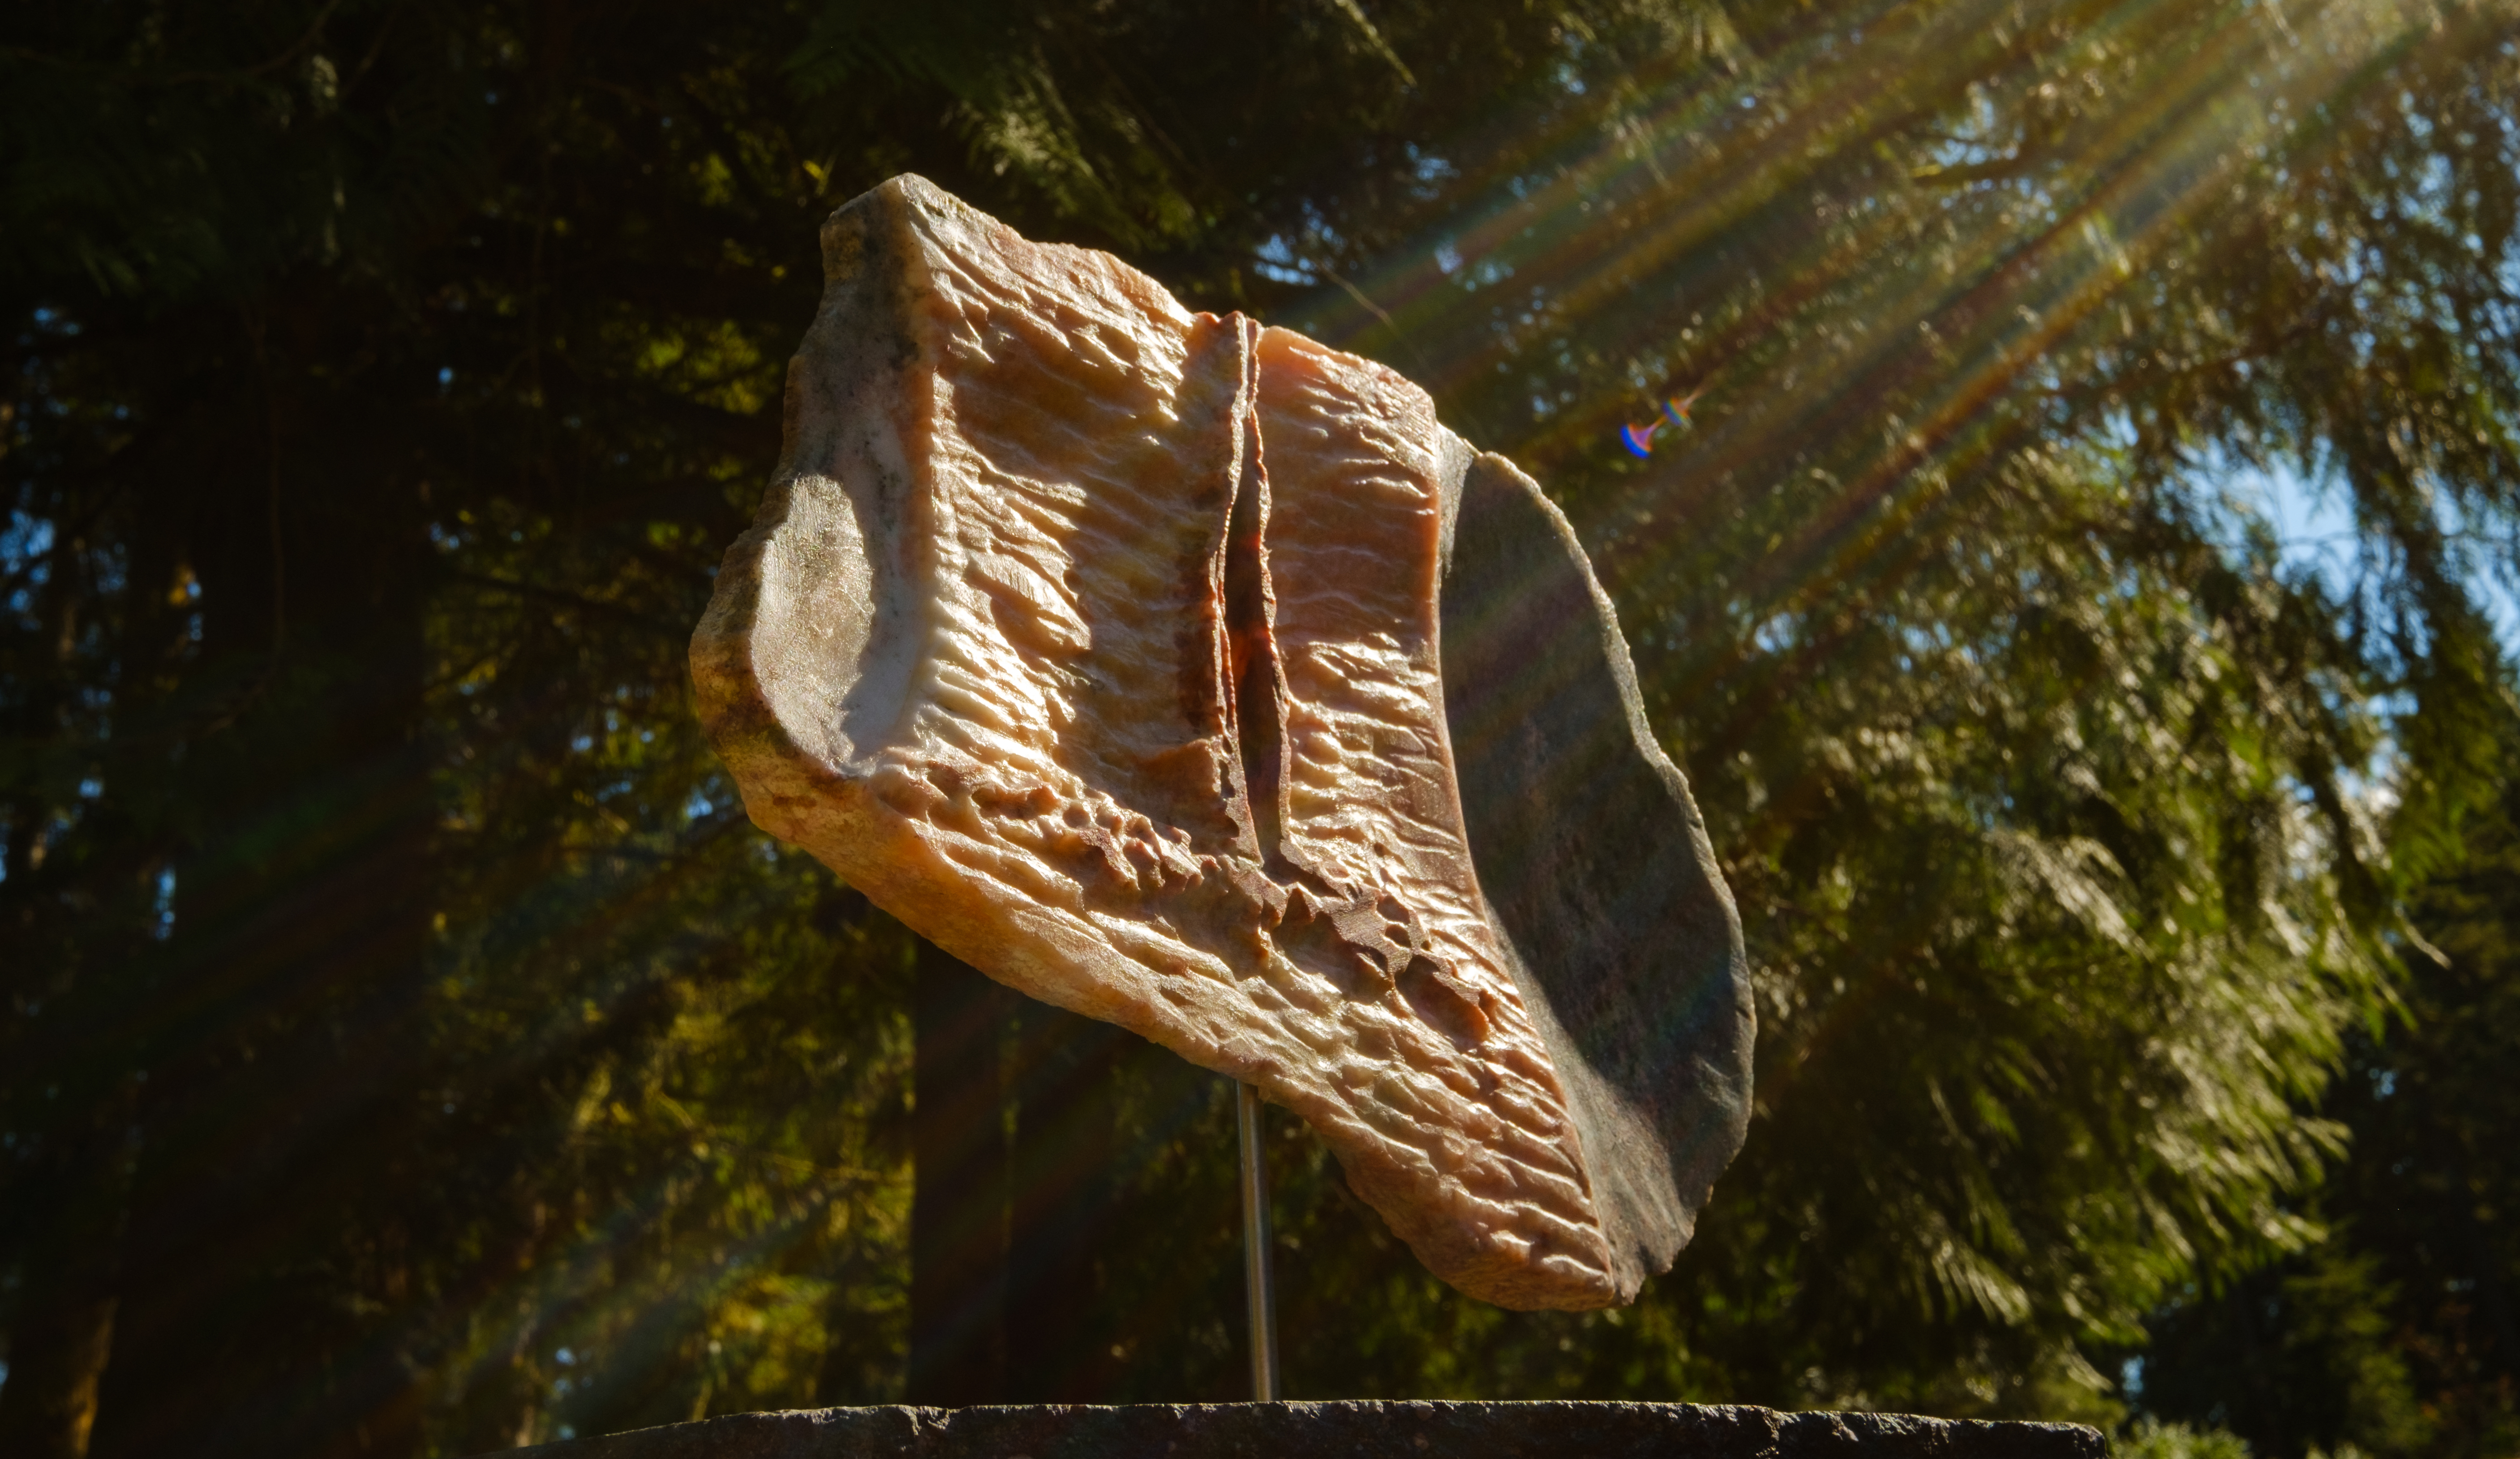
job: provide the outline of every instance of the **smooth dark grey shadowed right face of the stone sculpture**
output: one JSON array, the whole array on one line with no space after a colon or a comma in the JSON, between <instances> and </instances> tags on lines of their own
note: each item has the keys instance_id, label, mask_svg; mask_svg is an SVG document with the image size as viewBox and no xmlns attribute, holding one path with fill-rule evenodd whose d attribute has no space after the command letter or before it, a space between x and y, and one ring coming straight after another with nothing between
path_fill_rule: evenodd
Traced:
<instances>
[{"instance_id":1,"label":"smooth dark grey shadowed right face of the stone sculpture","mask_svg":"<svg viewBox=\"0 0 2520 1459\"><path fill-rule=\"evenodd\" d=\"M1635 1293L1749 1126L1741 920L1575 529L1504 456L1452 491L1444 721L1469 852Z\"/></svg>"}]
</instances>

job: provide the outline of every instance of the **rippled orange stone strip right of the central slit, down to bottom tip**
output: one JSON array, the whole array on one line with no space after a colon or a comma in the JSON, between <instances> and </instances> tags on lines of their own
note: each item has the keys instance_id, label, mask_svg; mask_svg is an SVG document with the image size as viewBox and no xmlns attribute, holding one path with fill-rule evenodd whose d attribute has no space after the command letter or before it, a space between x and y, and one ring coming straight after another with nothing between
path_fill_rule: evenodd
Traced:
<instances>
[{"instance_id":1,"label":"rippled orange stone strip right of the central slit, down to bottom tip","mask_svg":"<svg viewBox=\"0 0 2520 1459\"><path fill-rule=\"evenodd\" d=\"M1434 403L1391 370L1268 330L1260 443L1283 695L1275 852L1290 862L1278 874L1371 910L1343 947L1280 927L1295 965L1346 993L1318 1051L1381 1136L1333 1147L1358 1194L1462 1290L1600 1305L1613 1257L1580 1139L1482 912L1454 791Z\"/></svg>"}]
</instances>

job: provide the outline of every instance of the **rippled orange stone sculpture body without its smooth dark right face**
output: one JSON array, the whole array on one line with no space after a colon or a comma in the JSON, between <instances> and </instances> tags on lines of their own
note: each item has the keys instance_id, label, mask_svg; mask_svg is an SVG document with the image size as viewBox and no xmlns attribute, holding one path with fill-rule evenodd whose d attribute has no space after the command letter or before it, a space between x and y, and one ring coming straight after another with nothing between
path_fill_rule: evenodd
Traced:
<instances>
[{"instance_id":1,"label":"rippled orange stone sculpture body without its smooth dark right face","mask_svg":"<svg viewBox=\"0 0 2520 1459\"><path fill-rule=\"evenodd\" d=\"M1676 1227L1628 1177L1603 1207L1557 1063L1588 1048L1482 892L1439 625L1482 476L1424 391L920 179L834 214L824 262L779 479L693 635L753 821L1260 1086L1462 1290L1630 1298L1704 1187ZM1668 1114L1658 1076L1572 1073L1613 1147Z\"/></svg>"}]
</instances>

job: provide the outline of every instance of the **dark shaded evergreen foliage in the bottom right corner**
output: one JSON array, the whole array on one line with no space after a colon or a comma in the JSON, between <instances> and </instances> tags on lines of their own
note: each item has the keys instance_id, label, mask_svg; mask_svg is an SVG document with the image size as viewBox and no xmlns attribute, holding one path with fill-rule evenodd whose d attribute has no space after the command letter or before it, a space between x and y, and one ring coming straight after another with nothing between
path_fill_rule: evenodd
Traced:
<instances>
[{"instance_id":1,"label":"dark shaded evergreen foliage in the bottom right corner","mask_svg":"<svg viewBox=\"0 0 2520 1459\"><path fill-rule=\"evenodd\" d=\"M2334 1237L2175 1303L2137 1401L2260 1456L2510 1454L2520 1444L2520 796L2477 816L2414 902L2404 1008L2356 1031L2328 1114L2354 1159L2318 1192ZM2437 955L2434 955L2437 953Z\"/></svg>"}]
</instances>

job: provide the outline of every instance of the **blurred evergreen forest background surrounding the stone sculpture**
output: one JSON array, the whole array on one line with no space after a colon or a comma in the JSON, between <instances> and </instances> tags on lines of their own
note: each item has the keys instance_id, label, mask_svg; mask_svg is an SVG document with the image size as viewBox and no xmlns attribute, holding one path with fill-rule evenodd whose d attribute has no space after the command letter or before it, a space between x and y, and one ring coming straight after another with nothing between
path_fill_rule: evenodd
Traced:
<instances>
[{"instance_id":1,"label":"blurred evergreen forest background surrounding the stone sculpture","mask_svg":"<svg viewBox=\"0 0 2520 1459\"><path fill-rule=\"evenodd\" d=\"M1744 910L1635 1308L1280 1116L1295 1396L2507 1454L2515 103L2510 0L13 5L0 1449L900 1396L915 940L683 638L915 169L1525 461ZM1230 1091L1111 1079L1074 1341L1235 1399Z\"/></svg>"}]
</instances>

